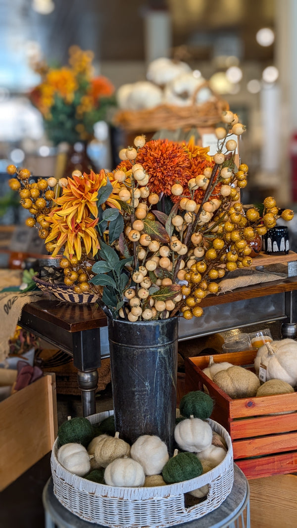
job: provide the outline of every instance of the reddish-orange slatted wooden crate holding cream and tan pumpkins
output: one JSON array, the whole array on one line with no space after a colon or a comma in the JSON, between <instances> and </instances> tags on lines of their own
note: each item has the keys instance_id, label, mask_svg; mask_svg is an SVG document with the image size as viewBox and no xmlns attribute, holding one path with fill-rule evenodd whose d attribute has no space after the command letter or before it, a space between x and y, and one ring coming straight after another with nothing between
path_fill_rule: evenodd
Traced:
<instances>
[{"instance_id":1,"label":"reddish-orange slatted wooden crate holding cream and tan pumpkins","mask_svg":"<svg viewBox=\"0 0 297 528\"><path fill-rule=\"evenodd\" d=\"M218 354L216 363L228 361L253 370L256 351ZM211 418L229 432L234 460L247 478L297 471L297 393L232 400L202 370L209 356L185 360L185 390L203 390L215 400ZM281 414L274 414L281 413Z\"/></svg>"}]
</instances>

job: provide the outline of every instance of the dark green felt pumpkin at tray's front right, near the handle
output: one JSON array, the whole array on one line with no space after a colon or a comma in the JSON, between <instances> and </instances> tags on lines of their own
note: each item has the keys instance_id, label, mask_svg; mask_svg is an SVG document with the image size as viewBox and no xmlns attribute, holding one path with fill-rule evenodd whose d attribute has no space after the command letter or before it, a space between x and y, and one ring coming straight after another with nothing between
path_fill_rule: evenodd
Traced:
<instances>
[{"instance_id":1,"label":"dark green felt pumpkin at tray's front right, near the handle","mask_svg":"<svg viewBox=\"0 0 297 528\"><path fill-rule=\"evenodd\" d=\"M166 484L183 482L202 475L202 465L194 453L184 451L166 462L162 475Z\"/></svg>"}]
</instances>

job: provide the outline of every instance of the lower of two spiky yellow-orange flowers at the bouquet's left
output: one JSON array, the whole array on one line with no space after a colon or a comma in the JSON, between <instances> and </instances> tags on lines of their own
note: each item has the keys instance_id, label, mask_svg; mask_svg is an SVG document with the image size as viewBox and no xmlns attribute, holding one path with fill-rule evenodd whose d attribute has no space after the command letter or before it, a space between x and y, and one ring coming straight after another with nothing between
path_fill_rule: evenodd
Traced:
<instances>
[{"instance_id":1,"label":"lower of two spiky yellow-orange flowers at the bouquet's left","mask_svg":"<svg viewBox=\"0 0 297 528\"><path fill-rule=\"evenodd\" d=\"M99 246L98 232L95 230L95 225L98 223L98 218L91 219L87 216L86 211L83 211L80 222L77 222L72 217L71 225L69 227L68 219L59 215L60 210L54 210L47 216L47 221L50 224L50 234L45 240L45 243L55 241L55 249L52 252L52 257L55 257L61 248L64 248L63 254L72 258L76 254L78 260L81 259L82 243L85 246L86 253L92 251L93 256L96 255Z\"/></svg>"}]
</instances>

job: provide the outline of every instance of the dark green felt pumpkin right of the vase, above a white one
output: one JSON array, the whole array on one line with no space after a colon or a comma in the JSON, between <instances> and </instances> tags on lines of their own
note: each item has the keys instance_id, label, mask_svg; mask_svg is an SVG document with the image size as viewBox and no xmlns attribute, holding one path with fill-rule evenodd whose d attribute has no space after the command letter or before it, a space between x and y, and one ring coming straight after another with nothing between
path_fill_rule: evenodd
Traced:
<instances>
[{"instance_id":1,"label":"dark green felt pumpkin right of the vase, above a white one","mask_svg":"<svg viewBox=\"0 0 297 528\"><path fill-rule=\"evenodd\" d=\"M180 401L180 412L186 418L192 415L194 418L206 420L210 418L213 409L214 400L202 391L188 392Z\"/></svg>"}]
</instances>

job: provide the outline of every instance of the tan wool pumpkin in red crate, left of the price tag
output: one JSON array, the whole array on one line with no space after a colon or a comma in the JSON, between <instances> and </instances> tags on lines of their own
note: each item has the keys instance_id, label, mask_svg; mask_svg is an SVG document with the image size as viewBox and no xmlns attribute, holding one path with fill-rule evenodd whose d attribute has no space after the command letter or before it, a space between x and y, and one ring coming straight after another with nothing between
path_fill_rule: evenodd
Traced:
<instances>
[{"instance_id":1,"label":"tan wool pumpkin in red crate, left of the price tag","mask_svg":"<svg viewBox=\"0 0 297 528\"><path fill-rule=\"evenodd\" d=\"M252 398L260 386L259 379L254 372L238 365L217 372L214 382L232 399Z\"/></svg>"}]
</instances>

